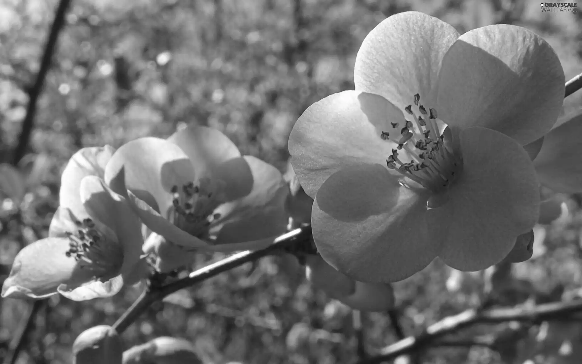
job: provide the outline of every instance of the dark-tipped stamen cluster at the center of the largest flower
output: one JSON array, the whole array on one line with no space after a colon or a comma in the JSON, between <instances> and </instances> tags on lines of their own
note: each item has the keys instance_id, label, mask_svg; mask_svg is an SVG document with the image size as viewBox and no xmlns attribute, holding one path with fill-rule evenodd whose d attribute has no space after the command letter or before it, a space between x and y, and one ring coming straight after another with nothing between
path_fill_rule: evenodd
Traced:
<instances>
[{"instance_id":1,"label":"dark-tipped stamen cluster at the center of the largest flower","mask_svg":"<svg viewBox=\"0 0 582 364\"><path fill-rule=\"evenodd\" d=\"M441 192L455 178L460 166L453 150L443 142L439 133L437 110L429 111L420 104L420 94L414 95L413 105L404 108L406 114L414 120L404 120L404 125L391 122L392 131L382 131L380 137L398 144L392 149L392 155L386 160L389 169L395 169L403 176L419 183L432 192ZM406 151L412 159L404 162L399 157L399 150ZM404 154L404 153L402 153Z\"/></svg>"}]
</instances>

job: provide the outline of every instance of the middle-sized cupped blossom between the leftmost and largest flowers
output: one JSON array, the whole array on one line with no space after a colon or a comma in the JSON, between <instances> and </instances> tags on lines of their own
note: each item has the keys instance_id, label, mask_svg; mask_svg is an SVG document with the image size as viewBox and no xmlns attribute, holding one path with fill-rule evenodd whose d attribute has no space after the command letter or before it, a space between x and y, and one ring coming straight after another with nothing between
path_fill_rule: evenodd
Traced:
<instances>
[{"instance_id":1,"label":"middle-sized cupped blossom between the leftmost and largest flowers","mask_svg":"<svg viewBox=\"0 0 582 364\"><path fill-rule=\"evenodd\" d=\"M118 181L120 175L125 175L124 183ZM180 258L164 270L187 263L197 249L262 248L286 231L289 188L281 172L258 158L241 156L215 129L188 126L167 140L133 140L113 154L105 180L129 197L152 232L171 243L152 239L158 243L144 247L163 248L165 256Z\"/></svg>"}]
</instances>

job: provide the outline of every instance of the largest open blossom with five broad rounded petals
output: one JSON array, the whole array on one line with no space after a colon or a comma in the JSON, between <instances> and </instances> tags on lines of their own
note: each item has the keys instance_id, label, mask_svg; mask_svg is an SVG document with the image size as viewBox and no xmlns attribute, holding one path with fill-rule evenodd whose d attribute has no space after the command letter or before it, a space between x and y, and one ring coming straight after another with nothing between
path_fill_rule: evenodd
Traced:
<instances>
[{"instance_id":1,"label":"largest open blossom with five broad rounded petals","mask_svg":"<svg viewBox=\"0 0 582 364\"><path fill-rule=\"evenodd\" d=\"M367 282L403 280L437 256L463 271L507 256L538 219L523 146L562 109L552 48L517 26L459 36L405 12L368 34L354 80L356 90L307 108L289 136L321 256Z\"/></svg>"}]
</instances>

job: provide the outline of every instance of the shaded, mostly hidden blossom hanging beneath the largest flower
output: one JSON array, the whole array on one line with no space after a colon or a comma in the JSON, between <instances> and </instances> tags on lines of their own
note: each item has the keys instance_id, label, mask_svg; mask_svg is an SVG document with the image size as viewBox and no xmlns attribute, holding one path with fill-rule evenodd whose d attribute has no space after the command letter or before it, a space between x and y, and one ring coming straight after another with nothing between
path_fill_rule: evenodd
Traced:
<instances>
[{"instance_id":1,"label":"shaded, mostly hidden blossom hanging beneath the largest flower","mask_svg":"<svg viewBox=\"0 0 582 364\"><path fill-rule=\"evenodd\" d=\"M353 309L385 312L394 307L392 285L354 281L320 256L308 256L306 277L315 287Z\"/></svg>"}]
</instances>

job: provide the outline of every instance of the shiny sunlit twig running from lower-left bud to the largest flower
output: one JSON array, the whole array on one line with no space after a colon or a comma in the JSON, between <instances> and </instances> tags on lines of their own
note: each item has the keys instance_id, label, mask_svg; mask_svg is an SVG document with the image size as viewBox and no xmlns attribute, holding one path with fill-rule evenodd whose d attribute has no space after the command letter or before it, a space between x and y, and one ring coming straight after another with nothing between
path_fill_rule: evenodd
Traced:
<instances>
[{"instance_id":1,"label":"shiny sunlit twig running from lower-left bud to the largest flower","mask_svg":"<svg viewBox=\"0 0 582 364\"><path fill-rule=\"evenodd\" d=\"M289 248L293 245L310 244L311 243L311 227L303 227L294 229L285 235L281 235L275 241L267 246L267 248L260 250L247 250L228 258L212 263L209 266L193 271L186 278L163 285L162 287L150 287L141 294L141 296L127 309L127 311L113 324L113 328L119 333L123 333L130 324L141 316L141 314L152 305L152 303L164 298L165 296L179 291L180 289L190 287L214 277L220 273L228 271L232 268L242 266L244 263L249 263L260 259L261 257L270 255L275 250Z\"/></svg>"}]
</instances>

